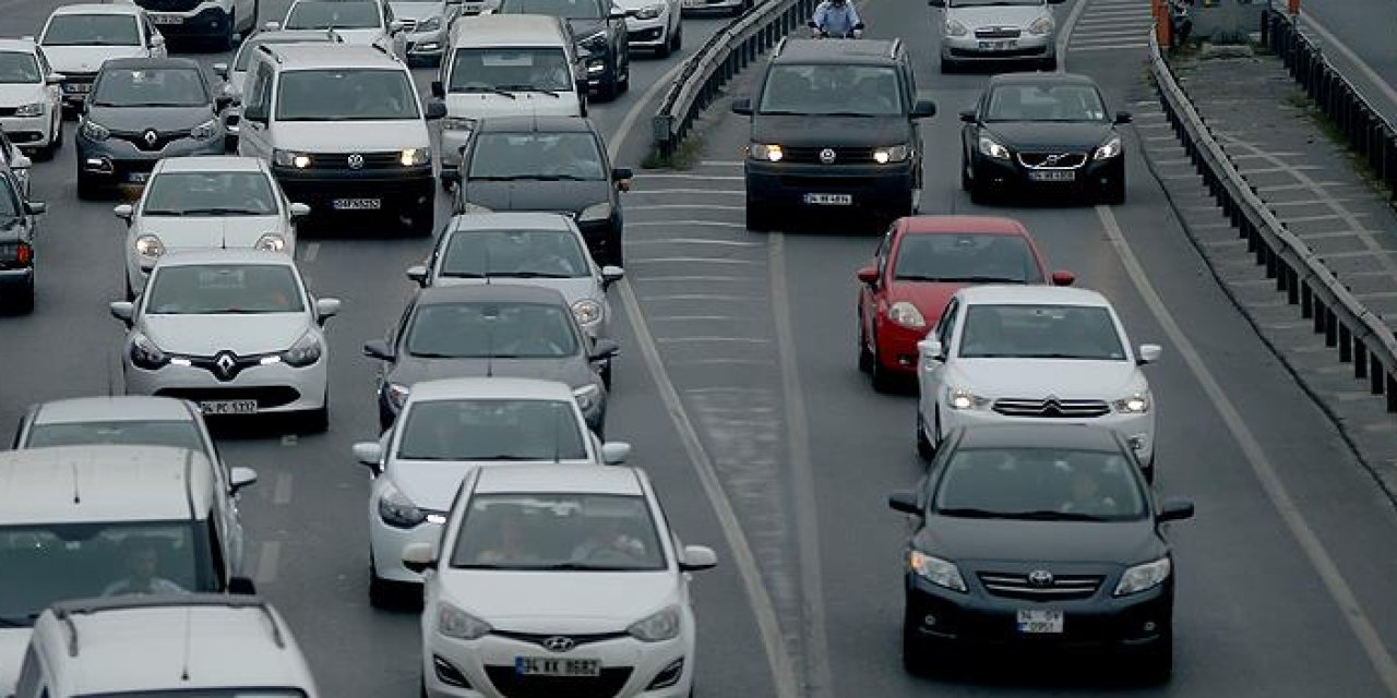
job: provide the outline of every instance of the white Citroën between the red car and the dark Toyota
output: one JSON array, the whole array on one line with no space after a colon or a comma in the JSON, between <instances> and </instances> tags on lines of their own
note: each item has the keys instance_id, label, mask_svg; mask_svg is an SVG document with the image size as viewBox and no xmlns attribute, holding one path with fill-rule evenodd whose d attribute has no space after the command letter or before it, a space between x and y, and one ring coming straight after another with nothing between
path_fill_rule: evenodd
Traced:
<instances>
[{"instance_id":1,"label":"white Citro\u00ebn between the red car and the dark Toyota","mask_svg":"<svg viewBox=\"0 0 1397 698\"><path fill-rule=\"evenodd\" d=\"M918 343L916 448L930 458L956 427L983 423L1115 429L1154 477L1155 405L1140 366L1158 345L1130 348L1101 293L1065 286L971 286Z\"/></svg>"}]
</instances>

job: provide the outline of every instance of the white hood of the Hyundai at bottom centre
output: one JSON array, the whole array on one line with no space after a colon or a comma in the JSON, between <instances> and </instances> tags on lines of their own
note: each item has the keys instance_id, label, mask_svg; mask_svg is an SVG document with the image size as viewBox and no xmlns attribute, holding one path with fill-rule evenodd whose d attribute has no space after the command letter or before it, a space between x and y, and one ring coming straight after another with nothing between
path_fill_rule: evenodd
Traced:
<instances>
[{"instance_id":1,"label":"white hood of the Hyundai at bottom centre","mask_svg":"<svg viewBox=\"0 0 1397 698\"><path fill-rule=\"evenodd\" d=\"M675 599L675 574L453 570L446 596L515 632L619 632Z\"/></svg>"}]
</instances>

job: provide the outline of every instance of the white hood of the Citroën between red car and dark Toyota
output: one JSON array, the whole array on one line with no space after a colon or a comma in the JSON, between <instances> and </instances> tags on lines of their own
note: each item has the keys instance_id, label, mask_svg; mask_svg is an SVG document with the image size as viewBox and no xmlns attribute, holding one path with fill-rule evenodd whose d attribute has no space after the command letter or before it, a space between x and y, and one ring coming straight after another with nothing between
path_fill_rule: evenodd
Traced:
<instances>
[{"instance_id":1,"label":"white hood of the Citro\u00ebn between red car and dark Toyota","mask_svg":"<svg viewBox=\"0 0 1397 698\"><path fill-rule=\"evenodd\" d=\"M1118 399L1139 389L1130 362L1081 359L957 359L947 383L985 398Z\"/></svg>"}]
</instances>

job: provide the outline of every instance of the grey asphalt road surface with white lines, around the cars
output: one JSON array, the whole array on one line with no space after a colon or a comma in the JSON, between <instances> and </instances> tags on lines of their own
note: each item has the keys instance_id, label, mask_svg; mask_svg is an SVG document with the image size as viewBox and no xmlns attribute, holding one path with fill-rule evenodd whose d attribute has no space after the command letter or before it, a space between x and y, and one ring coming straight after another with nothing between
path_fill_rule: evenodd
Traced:
<instances>
[{"instance_id":1,"label":"grey asphalt road surface with white lines, around the cars","mask_svg":"<svg viewBox=\"0 0 1397 698\"><path fill-rule=\"evenodd\" d=\"M53 4L0 0L0 35L35 32ZM263 20L282 6L264 3ZM908 487L921 465L914 398L875 394L855 370L854 271L875 240L831 226L746 232L738 155L746 133L722 116L701 165L641 172L627 195L630 281L613 299L624 317L623 357L608 427L634 444L634 463L651 472L685 542L719 551L719 568L694 584L698 695L1380 697L1397 685L1397 515L1218 289L1137 156L1140 138L1168 137L1133 32L1146 6L1091 0L1066 54L1067 68L1094 75L1113 109L1139 116L1127 138L1127 204L1109 209L971 205L956 179L954 114L985 75L936 71L923 4L869 0L863 14L875 36L902 32L921 88L940 106L923 127L922 211L1020 218L1053 268L1112 297L1134 342L1165 346L1148 369L1158 487L1199 507L1172 536L1175 680L1118 685L1099 678L1109 666L1092 659L990 662L932 680L902 673L905 526L884 496ZM1060 6L1059 17L1074 7ZM715 27L690 21L687 50ZM631 92L595 106L602 130L615 138L676 60L637 61ZM648 112L638 113L613 141L622 165L644 152ZM0 362L10 367L0 424L35 401L119 389L122 328L106 302L120 293L123 228L110 204L77 201L73 168L68 147L35 170L36 195L50 204L39 299L32 315L0 318ZM275 426L222 433L228 461L261 475L242 507L249 564L326 695L411 695L418 621L367 604L366 472L349 445L376 433L373 366L359 345L401 310L411 292L402 269L429 243L345 230L300 244L312 286L345 302L330 324L331 427L299 438Z\"/></svg>"}]
</instances>

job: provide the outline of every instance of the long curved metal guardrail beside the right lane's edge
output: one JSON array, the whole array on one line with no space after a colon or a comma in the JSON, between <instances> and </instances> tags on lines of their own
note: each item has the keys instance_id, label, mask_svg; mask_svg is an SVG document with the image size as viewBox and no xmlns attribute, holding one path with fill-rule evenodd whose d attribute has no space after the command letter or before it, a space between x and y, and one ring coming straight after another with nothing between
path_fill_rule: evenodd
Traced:
<instances>
[{"instance_id":1,"label":"long curved metal guardrail beside the right lane's edge","mask_svg":"<svg viewBox=\"0 0 1397 698\"><path fill-rule=\"evenodd\" d=\"M1266 276L1275 279L1275 290L1285 293L1289 304L1299 306L1301 317L1313 320L1315 332L1324 335L1326 346L1337 348L1338 360L1354 364L1354 377L1368 381L1373 395L1386 396L1387 412L1397 412L1397 339L1391 328L1256 195L1175 81L1154 32L1150 71L1173 133L1239 237L1246 239L1256 264L1266 267Z\"/></svg>"}]
</instances>

